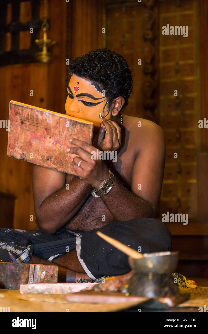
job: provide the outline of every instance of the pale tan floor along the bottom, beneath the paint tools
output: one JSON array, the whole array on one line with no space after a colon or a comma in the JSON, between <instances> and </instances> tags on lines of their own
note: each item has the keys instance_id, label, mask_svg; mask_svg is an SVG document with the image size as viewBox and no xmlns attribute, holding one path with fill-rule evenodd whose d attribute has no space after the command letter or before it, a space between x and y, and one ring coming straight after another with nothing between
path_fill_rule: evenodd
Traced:
<instances>
[{"instance_id":1,"label":"pale tan floor along the bottom, beneath the paint tools","mask_svg":"<svg viewBox=\"0 0 208 334\"><path fill-rule=\"evenodd\" d=\"M142 312L198 313L199 307L208 305L208 280L194 279L198 288L183 288L191 293L190 299L167 310L142 308ZM136 307L137 305L137 307ZM10 312L138 312L138 302L117 304L69 303L65 295L20 294L19 290L0 289L0 307L10 307Z\"/></svg>"}]
</instances>

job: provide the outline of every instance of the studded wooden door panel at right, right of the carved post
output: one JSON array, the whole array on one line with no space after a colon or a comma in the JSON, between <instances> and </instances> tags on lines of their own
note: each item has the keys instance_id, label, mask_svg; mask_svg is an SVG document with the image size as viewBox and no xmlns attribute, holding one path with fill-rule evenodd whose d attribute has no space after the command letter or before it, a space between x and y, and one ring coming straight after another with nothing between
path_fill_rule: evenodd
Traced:
<instances>
[{"instance_id":1,"label":"studded wooden door panel at right, right of the carved post","mask_svg":"<svg viewBox=\"0 0 208 334\"><path fill-rule=\"evenodd\" d=\"M188 26L186 38L160 34L160 124L166 139L161 209L173 208L174 213L188 213L189 219L195 221L199 220L197 155L200 149L197 20L196 0L174 1L173 4L167 0L160 2L160 27L168 24ZM174 96L176 90L177 96Z\"/></svg>"}]
</instances>

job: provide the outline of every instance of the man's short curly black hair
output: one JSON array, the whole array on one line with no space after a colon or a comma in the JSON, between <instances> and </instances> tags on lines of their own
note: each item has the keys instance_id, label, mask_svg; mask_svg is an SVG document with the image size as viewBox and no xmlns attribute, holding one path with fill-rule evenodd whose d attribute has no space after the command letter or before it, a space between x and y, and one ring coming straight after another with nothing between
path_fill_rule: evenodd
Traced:
<instances>
[{"instance_id":1,"label":"man's short curly black hair","mask_svg":"<svg viewBox=\"0 0 208 334\"><path fill-rule=\"evenodd\" d=\"M122 96L123 110L129 103L132 92L132 74L126 59L107 48L91 50L82 57L76 57L69 65L70 75L96 82L105 90L109 106L114 99Z\"/></svg>"}]
</instances>

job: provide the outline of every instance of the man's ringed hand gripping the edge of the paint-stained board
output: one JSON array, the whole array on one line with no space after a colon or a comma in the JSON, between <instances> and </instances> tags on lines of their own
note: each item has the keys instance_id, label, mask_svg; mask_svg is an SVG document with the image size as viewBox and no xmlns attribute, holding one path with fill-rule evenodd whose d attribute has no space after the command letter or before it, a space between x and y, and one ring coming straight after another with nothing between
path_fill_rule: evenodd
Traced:
<instances>
[{"instance_id":1,"label":"man's ringed hand gripping the edge of the paint-stained board","mask_svg":"<svg viewBox=\"0 0 208 334\"><path fill-rule=\"evenodd\" d=\"M108 130L107 130L108 131ZM84 182L97 188L102 181L109 178L109 170L103 160L91 159L91 152L96 153L96 148L79 139L69 139L69 142L76 147L70 147L66 151L76 154L77 157L71 158L73 169ZM76 164L80 162L80 167Z\"/></svg>"}]
</instances>

